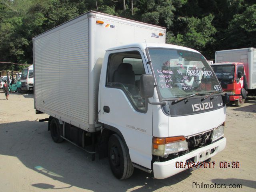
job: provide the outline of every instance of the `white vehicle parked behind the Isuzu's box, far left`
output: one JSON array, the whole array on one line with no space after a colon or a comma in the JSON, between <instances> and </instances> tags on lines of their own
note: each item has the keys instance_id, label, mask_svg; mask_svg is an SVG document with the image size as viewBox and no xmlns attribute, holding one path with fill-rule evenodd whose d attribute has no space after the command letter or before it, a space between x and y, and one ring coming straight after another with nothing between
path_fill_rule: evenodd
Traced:
<instances>
[{"instance_id":1,"label":"white vehicle parked behind the Isuzu's box, far left","mask_svg":"<svg viewBox=\"0 0 256 192\"><path fill-rule=\"evenodd\" d=\"M34 89L34 72L33 65L22 70L20 77L21 90L33 90Z\"/></svg>"}]
</instances>

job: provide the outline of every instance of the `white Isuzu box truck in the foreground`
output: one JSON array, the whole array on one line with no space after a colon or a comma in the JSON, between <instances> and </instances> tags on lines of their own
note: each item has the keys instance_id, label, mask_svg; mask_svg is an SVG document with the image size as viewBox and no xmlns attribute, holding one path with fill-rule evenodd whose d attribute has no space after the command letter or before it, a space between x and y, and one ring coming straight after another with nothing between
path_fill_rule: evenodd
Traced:
<instances>
[{"instance_id":1,"label":"white Isuzu box truck in the foreground","mask_svg":"<svg viewBox=\"0 0 256 192\"><path fill-rule=\"evenodd\" d=\"M113 174L163 179L226 146L226 102L198 51L165 44L166 29L94 11L33 39L34 104L54 142L68 140Z\"/></svg>"}]
</instances>

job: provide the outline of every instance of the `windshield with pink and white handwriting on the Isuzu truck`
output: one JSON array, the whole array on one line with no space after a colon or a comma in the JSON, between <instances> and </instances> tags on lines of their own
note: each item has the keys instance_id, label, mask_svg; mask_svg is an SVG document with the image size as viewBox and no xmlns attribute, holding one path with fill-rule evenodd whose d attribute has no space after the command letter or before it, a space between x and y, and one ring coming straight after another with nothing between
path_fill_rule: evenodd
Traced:
<instances>
[{"instance_id":1,"label":"windshield with pink and white handwriting on the Isuzu truck","mask_svg":"<svg viewBox=\"0 0 256 192\"><path fill-rule=\"evenodd\" d=\"M201 54L167 48L149 48L149 53L162 98L222 92Z\"/></svg>"}]
</instances>

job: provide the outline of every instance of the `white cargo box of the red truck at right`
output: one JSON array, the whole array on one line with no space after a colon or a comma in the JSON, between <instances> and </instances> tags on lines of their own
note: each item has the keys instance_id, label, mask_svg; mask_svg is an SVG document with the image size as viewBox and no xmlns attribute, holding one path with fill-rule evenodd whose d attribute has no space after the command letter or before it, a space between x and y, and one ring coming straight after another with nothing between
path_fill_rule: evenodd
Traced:
<instances>
[{"instance_id":1,"label":"white cargo box of the red truck at right","mask_svg":"<svg viewBox=\"0 0 256 192\"><path fill-rule=\"evenodd\" d=\"M215 63L220 62L244 63L248 89L256 89L256 48L216 51Z\"/></svg>"}]
</instances>

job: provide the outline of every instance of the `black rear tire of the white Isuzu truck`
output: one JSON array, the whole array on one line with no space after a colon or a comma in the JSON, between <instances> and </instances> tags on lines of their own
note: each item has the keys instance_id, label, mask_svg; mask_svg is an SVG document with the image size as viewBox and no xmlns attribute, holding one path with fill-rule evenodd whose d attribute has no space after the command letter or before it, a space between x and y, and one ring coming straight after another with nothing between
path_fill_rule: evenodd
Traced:
<instances>
[{"instance_id":1,"label":"black rear tire of the white Isuzu truck","mask_svg":"<svg viewBox=\"0 0 256 192\"><path fill-rule=\"evenodd\" d=\"M64 139L61 137L61 135L63 135L63 126L60 124L59 120L52 118L49 123L52 140L56 143L63 142Z\"/></svg>"}]
</instances>

